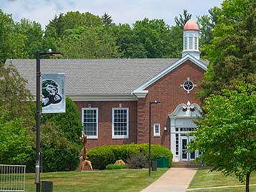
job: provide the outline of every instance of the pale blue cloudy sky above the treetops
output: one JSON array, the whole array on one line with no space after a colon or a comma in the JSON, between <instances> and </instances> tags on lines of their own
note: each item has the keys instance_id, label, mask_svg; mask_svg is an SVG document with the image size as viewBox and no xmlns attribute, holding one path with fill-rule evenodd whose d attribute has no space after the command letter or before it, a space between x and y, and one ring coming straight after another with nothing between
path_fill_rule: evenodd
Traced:
<instances>
[{"instance_id":1,"label":"pale blue cloudy sky above the treetops","mask_svg":"<svg viewBox=\"0 0 256 192\"><path fill-rule=\"evenodd\" d=\"M220 6L222 0L0 0L0 9L12 14L15 21L27 18L37 21L44 27L54 15L67 11L89 11L102 16L107 12L115 24L133 24L145 17L163 19L166 24L174 25L174 16L183 9L197 15L208 14L208 9Z\"/></svg>"}]
</instances>

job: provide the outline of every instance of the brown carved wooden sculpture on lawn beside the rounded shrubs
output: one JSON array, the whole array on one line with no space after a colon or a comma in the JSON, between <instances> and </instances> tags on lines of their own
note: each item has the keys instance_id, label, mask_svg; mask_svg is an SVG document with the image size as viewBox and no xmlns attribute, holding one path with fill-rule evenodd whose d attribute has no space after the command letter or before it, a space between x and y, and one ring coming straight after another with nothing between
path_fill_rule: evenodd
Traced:
<instances>
[{"instance_id":1,"label":"brown carved wooden sculpture on lawn beside the rounded shrubs","mask_svg":"<svg viewBox=\"0 0 256 192\"><path fill-rule=\"evenodd\" d=\"M83 145L83 148L81 152L79 153L78 157L80 158L80 165L77 168L77 171L93 171L93 166L90 160L86 159L86 142L87 142L87 135L85 133L82 133L82 138L80 138L80 141Z\"/></svg>"}]
</instances>

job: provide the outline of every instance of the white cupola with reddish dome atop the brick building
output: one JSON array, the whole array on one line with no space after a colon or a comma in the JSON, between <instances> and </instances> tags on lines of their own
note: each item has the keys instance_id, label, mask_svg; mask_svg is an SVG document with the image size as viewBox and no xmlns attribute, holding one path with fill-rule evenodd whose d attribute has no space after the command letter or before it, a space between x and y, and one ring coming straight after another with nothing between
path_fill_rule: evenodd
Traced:
<instances>
[{"instance_id":1,"label":"white cupola with reddish dome atop the brick building","mask_svg":"<svg viewBox=\"0 0 256 192\"><path fill-rule=\"evenodd\" d=\"M183 51L182 57L191 54L196 59L200 59L199 52L199 28L192 19L186 22L183 30Z\"/></svg>"}]
</instances>

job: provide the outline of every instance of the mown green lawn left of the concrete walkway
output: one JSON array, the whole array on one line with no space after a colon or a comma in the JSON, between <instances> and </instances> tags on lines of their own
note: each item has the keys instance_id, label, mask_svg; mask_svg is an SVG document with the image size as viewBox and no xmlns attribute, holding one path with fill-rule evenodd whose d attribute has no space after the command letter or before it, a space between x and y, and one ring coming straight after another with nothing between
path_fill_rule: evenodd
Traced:
<instances>
[{"instance_id":1,"label":"mown green lawn left of the concrete walkway","mask_svg":"<svg viewBox=\"0 0 256 192\"><path fill-rule=\"evenodd\" d=\"M167 170L168 168L158 168L157 171L151 172L151 178L148 178L148 170L146 169L42 173L41 181L52 181L54 192L136 192L156 181ZM27 173L26 192L34 191L34 173Z\"/></svg>"}]
</instances>

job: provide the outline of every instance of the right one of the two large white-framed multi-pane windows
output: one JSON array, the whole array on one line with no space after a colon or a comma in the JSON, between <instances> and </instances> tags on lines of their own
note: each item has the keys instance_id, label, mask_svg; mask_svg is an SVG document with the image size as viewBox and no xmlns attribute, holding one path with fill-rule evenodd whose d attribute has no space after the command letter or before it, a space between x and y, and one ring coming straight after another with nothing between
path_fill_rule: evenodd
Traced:
<instances>
[{"instance_id":1,"label":"right one of the two large white-framed multi-pane windows","mask_svg":"<svg viewBox=\"0 0 256 192\"><path fill-rule=\"evenodd\" d=\"M112 138L128 138L129 130L128 108L112 109Z\"/></svg>"}]
</instances>

